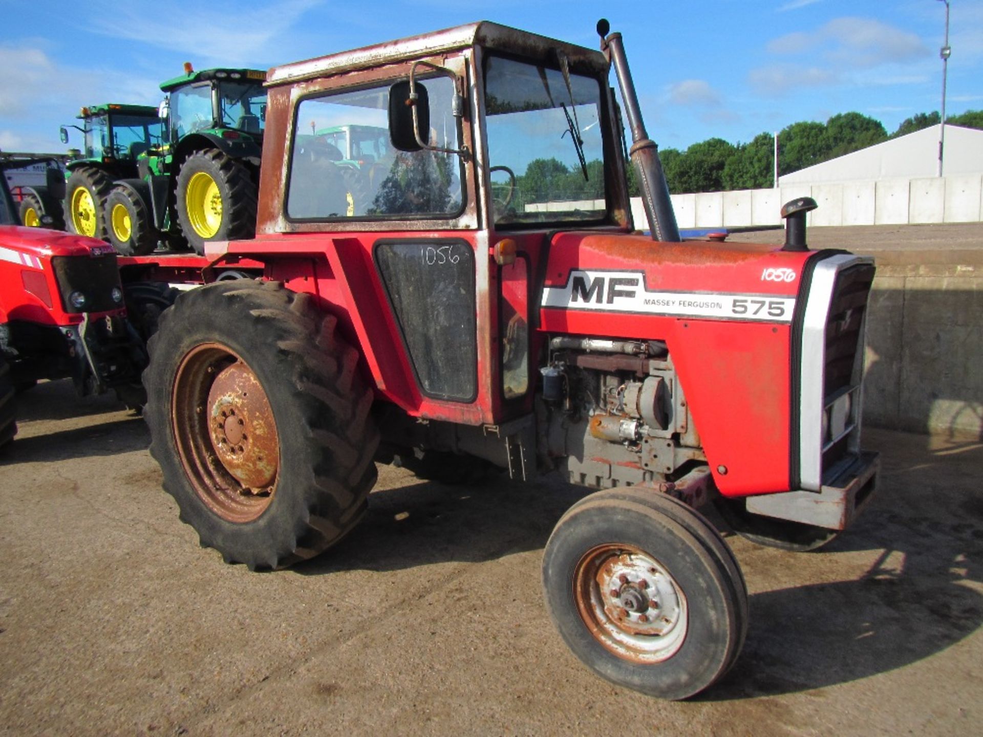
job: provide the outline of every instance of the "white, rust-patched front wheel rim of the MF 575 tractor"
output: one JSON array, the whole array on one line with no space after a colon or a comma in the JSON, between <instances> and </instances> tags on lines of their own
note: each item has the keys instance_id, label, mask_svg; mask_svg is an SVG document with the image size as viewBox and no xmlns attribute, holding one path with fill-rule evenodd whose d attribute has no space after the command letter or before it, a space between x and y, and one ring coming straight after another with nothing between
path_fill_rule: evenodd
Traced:
<instances>
[{"instance_id":1,"label":"white, rust-patched front wheel rim of the MF 575 tractor","mask_svg":"<svg viewBox=\"0 0 983 737\"><path fill-rule=\"evenodd\" d=\"M589 550L574 570L573 597L594 639L624 660L662 662L686 640L686 596L662 563L634 545Z\"/></svg>"}]
</instances>

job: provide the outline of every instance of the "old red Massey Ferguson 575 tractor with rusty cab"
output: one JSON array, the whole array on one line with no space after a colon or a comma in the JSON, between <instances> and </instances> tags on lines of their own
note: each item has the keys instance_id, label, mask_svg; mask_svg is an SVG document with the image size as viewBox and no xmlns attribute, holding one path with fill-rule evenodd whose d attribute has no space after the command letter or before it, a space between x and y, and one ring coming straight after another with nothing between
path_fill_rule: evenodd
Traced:
<instances>
[{"instance_id":1,"label":"old red Massey Ferguson 575 tractor with rusty cab","mask_svg":"<svg viewBox=\"0 0 983 737\"><path fill-rule=\"evenodd\" d=\"M681 243L620 34L599 31L601 53L478 23L272 69L257 235L206 251L206 274L249 258L262 278L163 312L145 417L181 519L252 569L351 531L375 460L601 489L549 539L549 612L603 677L682 699L734 662L748 615L694 508L807 549L874 488L874 267L808 250L809 199L782 248ZM306 145L353 124L395 150L361 198Z\"/></svg>"}]
</instances>

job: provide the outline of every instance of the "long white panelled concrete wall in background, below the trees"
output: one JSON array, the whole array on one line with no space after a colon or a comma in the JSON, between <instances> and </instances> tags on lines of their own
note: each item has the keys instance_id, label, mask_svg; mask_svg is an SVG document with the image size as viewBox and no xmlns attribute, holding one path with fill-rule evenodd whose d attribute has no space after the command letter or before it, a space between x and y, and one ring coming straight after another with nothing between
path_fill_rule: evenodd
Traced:
<instances>
[{"instance_id":1,"label":"long white panelled concrete wall in background, below the trees","mask_svg":"<svg viewBox=\"0 0 983 737\"><path fill-rule=\"evenodd\" d=\"M680 228L781 225L781 205L811 197L819 208L809 225L906 225L983 220L983 175L881 179L868 182L782 185L778 190L740 190L673 195ZM640 198L632 199L635 226L648 227Z\"/></svg>"}]
</instances>

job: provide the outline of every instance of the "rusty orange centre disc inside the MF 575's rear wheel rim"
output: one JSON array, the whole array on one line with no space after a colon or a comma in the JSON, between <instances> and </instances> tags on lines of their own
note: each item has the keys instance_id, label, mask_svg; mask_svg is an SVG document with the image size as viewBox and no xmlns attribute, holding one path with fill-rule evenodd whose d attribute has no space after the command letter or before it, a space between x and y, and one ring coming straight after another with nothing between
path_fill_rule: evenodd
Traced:
<instances>
[{"instance_id":1,"label":"rusty orange centre disc inside the MF 575's rear wheel rim","mask_svg":"<svg viewBox=\"0 0 983 737\"><path fill-rule=\"evenodd\" d=\"M245 364L222 369L208 392L208 433L225 469L253 493L276 478L278 439L260 382Z\"/></svg>"}]
</instances>

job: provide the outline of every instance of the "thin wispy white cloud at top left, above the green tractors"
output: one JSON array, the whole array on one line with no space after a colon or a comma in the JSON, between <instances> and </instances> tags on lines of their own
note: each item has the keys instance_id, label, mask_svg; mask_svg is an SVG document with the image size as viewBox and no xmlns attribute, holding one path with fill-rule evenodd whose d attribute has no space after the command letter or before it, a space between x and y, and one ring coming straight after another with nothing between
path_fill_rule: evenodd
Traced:
<instances>
[{"instance_id":1,"label":"thin wispy white cloud at top left, above the green tractors","mask_svg":"<svg viewBox=\"0 0 983 737\"><path fill-rule=\"evenodd\" d=\"M251 10L218 0L206 5L182 2L162 12L159 3L102 0L98 12L87 17L93 32L186 54L196 67L201 60L209 66L254 66L284 56L287 31L317 4L318 0L280 0Z\"/></svg>"}]
</instances>

